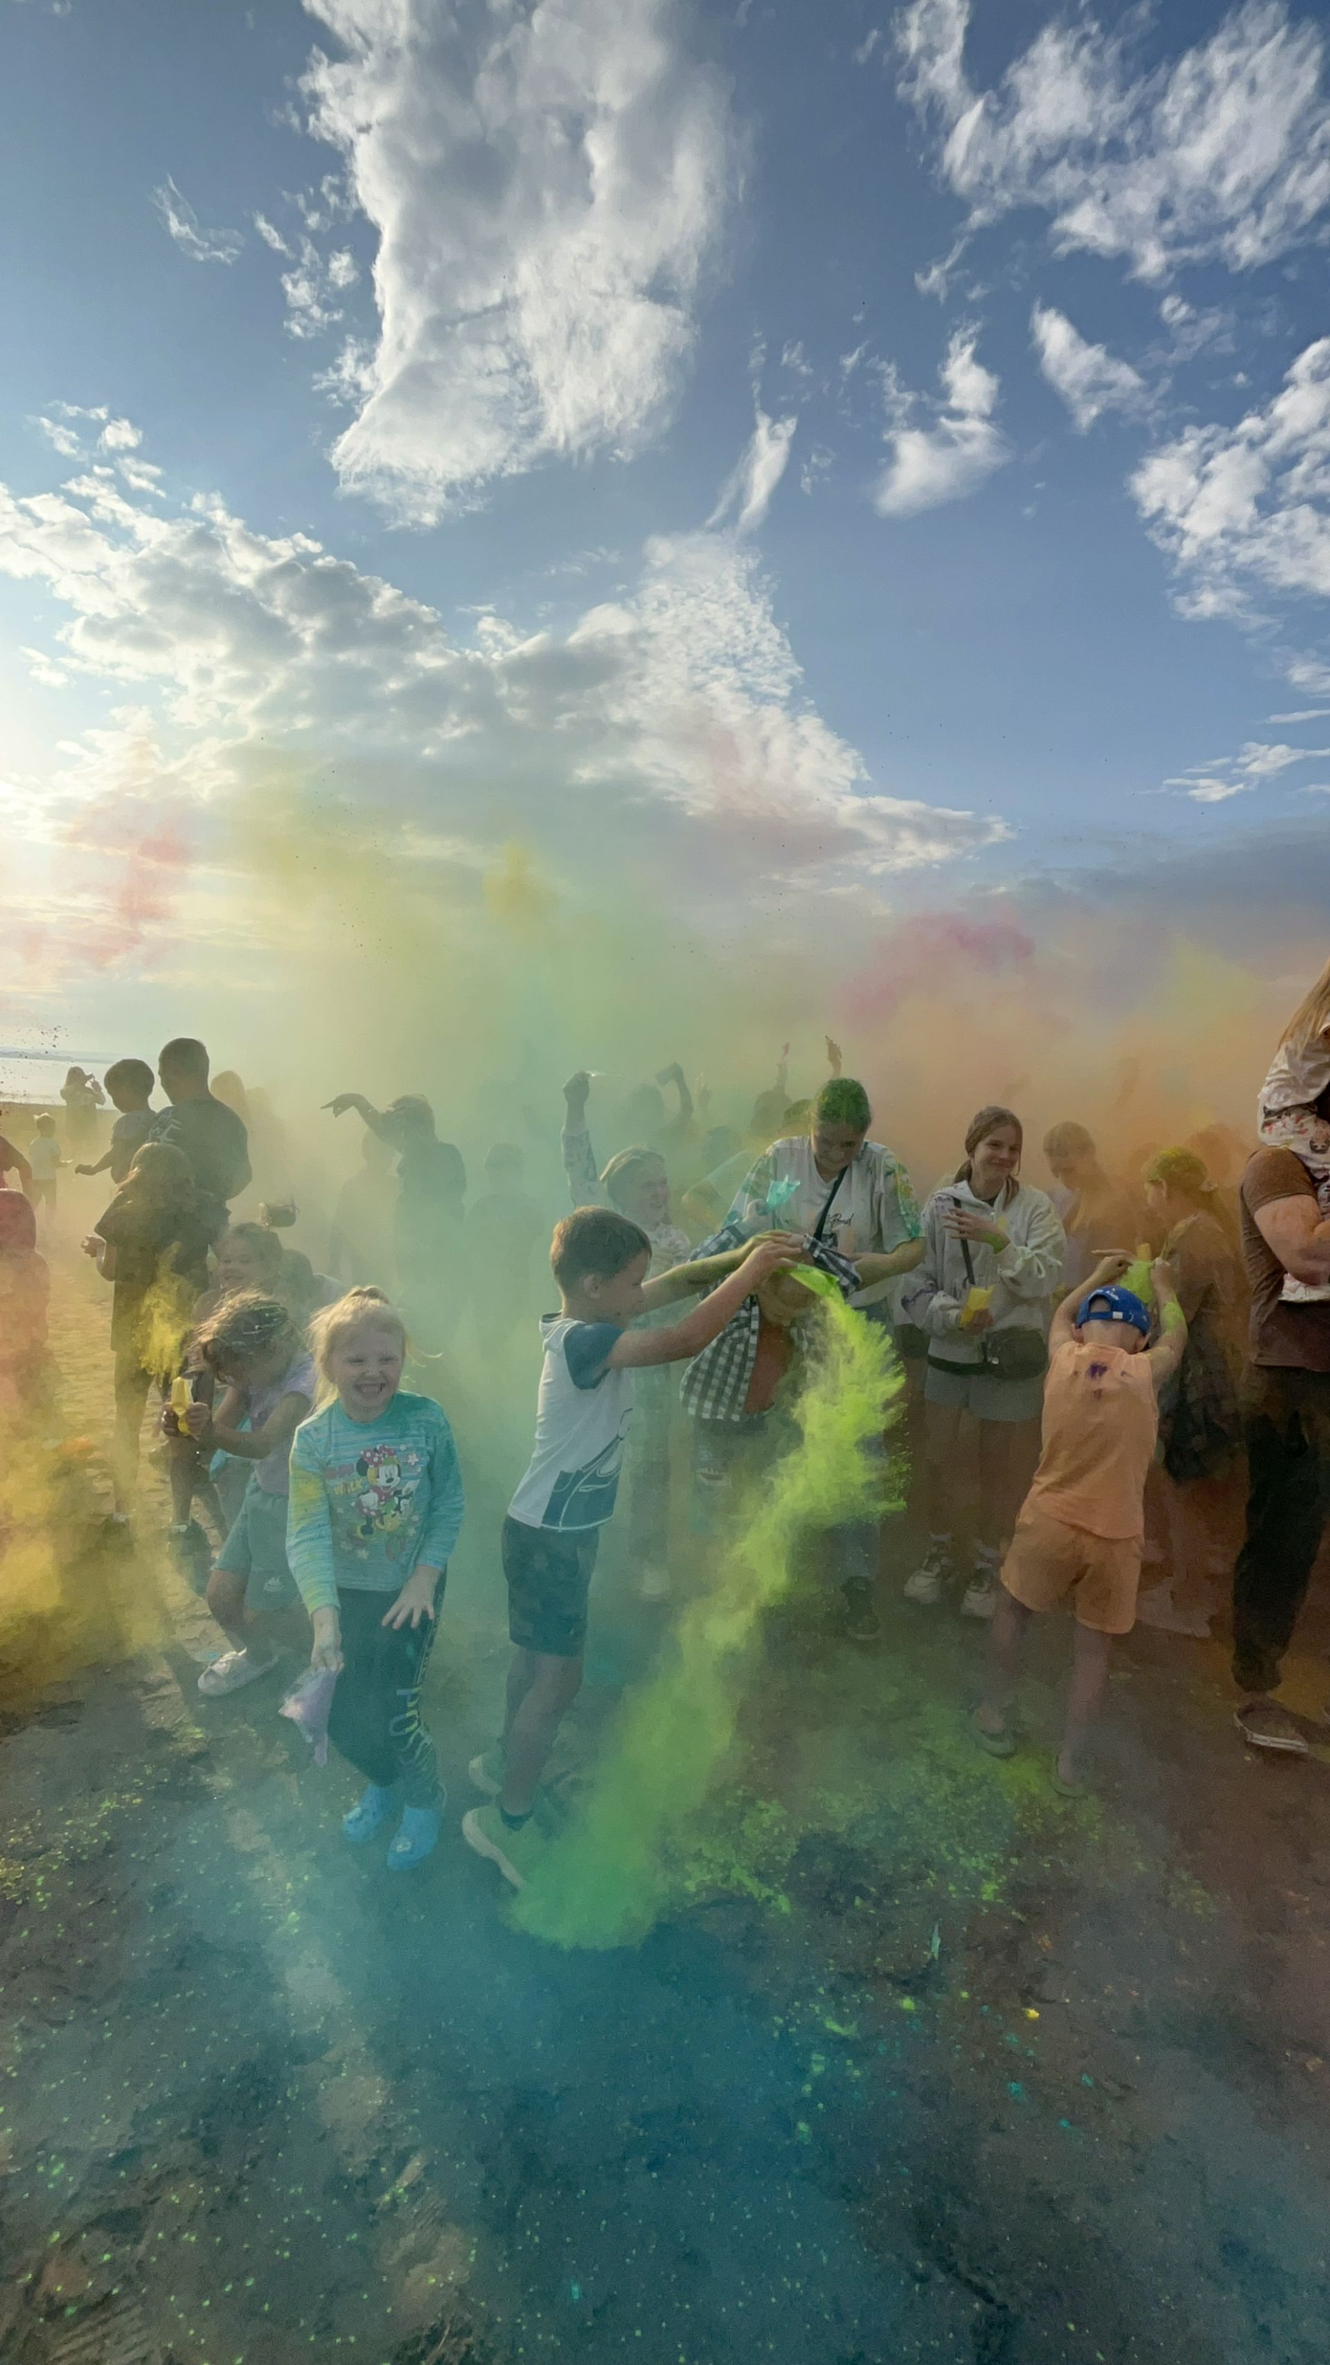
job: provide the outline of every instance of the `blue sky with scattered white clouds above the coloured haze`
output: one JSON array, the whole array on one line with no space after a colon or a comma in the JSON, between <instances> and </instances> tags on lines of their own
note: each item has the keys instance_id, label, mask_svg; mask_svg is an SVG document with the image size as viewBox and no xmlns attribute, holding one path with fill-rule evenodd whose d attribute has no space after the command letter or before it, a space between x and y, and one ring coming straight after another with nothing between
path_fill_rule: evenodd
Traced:
<instances>
[{"instance_id":1,"label":"blue sky with scattered white clouds above the coloured haze","mask_svg":"<svg viewBox=\"0 0 1330 2365\"><path fill-rule=\"evenodd\" d=\"M9 1034L208 934L142 877L274 754L721 913L1321 842L1323 12L0 40Z\"/></svg>"}]
</instances>

